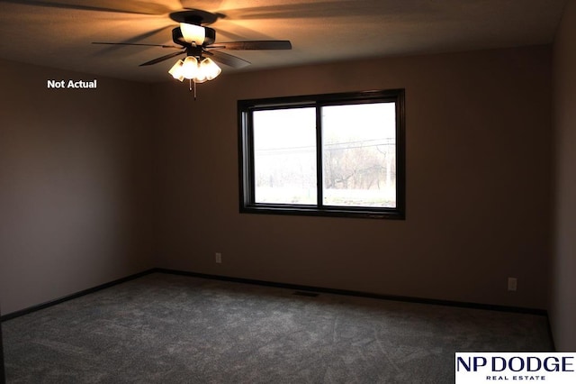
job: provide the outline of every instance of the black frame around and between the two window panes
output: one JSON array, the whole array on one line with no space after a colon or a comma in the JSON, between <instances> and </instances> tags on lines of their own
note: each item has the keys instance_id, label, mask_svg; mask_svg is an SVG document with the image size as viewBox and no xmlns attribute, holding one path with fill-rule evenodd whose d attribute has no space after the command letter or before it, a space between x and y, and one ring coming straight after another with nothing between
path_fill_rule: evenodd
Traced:
<instances>
[{"instance_id":1,"label":"black frame around and between the two window panes","mask_svg":"<svg viewBox=\"0 0 576 384\"><path fill-rule=\"evenodd\" d=\"M320 108L326 105L395 103L396 106L396 206L324 206L322 204L322 153ZM316 108L317 194L316 205L264 204L255 202L254 111L293 107ZM238 180L239 211L247 214L317 215L365 217L376 219L406 218L406 116L405 90L387 89L335 94L284 96L238 100Z\"/></svg>"}]
</instances>

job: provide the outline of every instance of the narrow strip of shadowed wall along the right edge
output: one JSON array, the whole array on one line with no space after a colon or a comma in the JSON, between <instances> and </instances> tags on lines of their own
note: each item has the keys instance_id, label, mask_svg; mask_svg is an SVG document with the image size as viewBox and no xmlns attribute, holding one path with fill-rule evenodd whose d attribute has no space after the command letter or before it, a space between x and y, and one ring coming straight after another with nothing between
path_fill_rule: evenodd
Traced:
<instances>
[{"instance_id":1,"label":"narrow strip of shadowed wall along the right edge","mask_svg":"<svg viewBox=\"0 0 576 384\"><path fill-rule=\"evenodd\" d=\"M576 2L554 41L555 209L551 322L556 349L576 351Z\"/></svg>"}]
</instances>

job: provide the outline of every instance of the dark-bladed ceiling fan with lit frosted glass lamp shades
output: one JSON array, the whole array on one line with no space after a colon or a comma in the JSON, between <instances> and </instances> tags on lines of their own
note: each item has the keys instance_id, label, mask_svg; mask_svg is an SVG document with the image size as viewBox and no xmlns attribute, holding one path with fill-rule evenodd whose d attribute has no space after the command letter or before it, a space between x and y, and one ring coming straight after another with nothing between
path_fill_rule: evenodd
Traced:
<instances>
[{"instance_id":1,"label":"dark-bladed ceiling fan with lit frosted glass lamp shades","mask_svg":"<svg viewBox=\"0 0 576 384\"><path fill-rule=\"evenodd\" d=\"M216 31L207 26L218 19L226 17L224 14L211 13L200 9L185 9L169 14L170 19L180 25L172 30L172 41L175 45L146 44L132 42L102 42L93 44L111 45L139 45L148 47L172 48L178 51L169 53L156 59L140 64L140 67L154 65L166 59L172 59L185 54L184 59L176 61L168 71L175 79L190 80L192 84L203 83L220 75L221 69L214 61L232 68L243 68L250 65L245 59L221 52L220 50L291 50L292 43L287 40L266 41L216 41ZM195 89L195 88L194 88Z\"/></svg>"}]
</instances>

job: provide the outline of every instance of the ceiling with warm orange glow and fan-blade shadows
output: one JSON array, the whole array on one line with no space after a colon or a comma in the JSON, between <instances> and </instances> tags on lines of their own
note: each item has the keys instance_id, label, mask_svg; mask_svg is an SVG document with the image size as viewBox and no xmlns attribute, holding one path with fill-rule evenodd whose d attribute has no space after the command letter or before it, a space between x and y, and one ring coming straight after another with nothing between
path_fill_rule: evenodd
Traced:
<instances>
[{"instance_id":1,"label":"ceiling with warm orange glow and fan-blade shadows","mask_svg":"<svg viewBox=\"0 0 576 384\"><path fill-rule=\"evenodd\" d=\"M225 51L255 70L283 66L483 50L553 41L566 0L0 0L0 58L96 76L156 82L173 50L93 41L172 44L183 8L223 14L216 42L290 40L293 50Z\"/></svg>"}]
</instances>

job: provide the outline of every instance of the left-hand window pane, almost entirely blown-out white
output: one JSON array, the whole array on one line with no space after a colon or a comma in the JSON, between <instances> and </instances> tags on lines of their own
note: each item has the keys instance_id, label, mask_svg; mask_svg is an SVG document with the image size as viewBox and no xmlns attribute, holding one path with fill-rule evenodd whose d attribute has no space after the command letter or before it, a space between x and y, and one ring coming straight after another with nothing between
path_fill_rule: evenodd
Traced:
<instances>
[{"instance_id":1,"label":"left-hand window pane, almost entirely blown-out white","mask_svg":"<svg viewBox=\"0 0 576 384\"><path fill-rule=\"evenodd\" d=\"M254 111L255 202L316 204L315 108Z\"/></svg>"}]
</instances>

